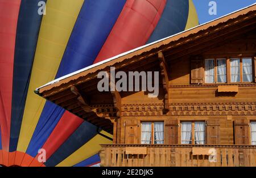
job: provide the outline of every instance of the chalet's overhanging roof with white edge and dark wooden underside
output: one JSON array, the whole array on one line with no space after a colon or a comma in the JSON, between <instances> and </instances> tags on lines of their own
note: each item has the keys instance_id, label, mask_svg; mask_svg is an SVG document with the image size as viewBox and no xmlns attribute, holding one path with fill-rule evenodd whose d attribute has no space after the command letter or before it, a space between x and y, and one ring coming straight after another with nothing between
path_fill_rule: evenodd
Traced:
<instances>
[{"instance_id":1,"label":"chalet's overhanging roof with white edge and dark wooden underside","mask_svg":"<svg viewBox=\"0 0 256 178\"><path fill-rule=\"evenodd\" d=\"M219 19L65 75L37 88L35 92L74 115L112 133L113 123L110 120L118 117L120 113L122 115L119 111L123 111L126 106L122 105L121 98L127 93L113 94L98 91L98 72L109 71L110 66L114 66L116 71L126 72L160 70L159 52L168 63L191 55L199 55L203 50L207 51L214 46L228 43L227 41L241 38L245 33L255 30L256 3ZM162 103L158 107L162 107Z\"/></svg>"}]
</instances>

